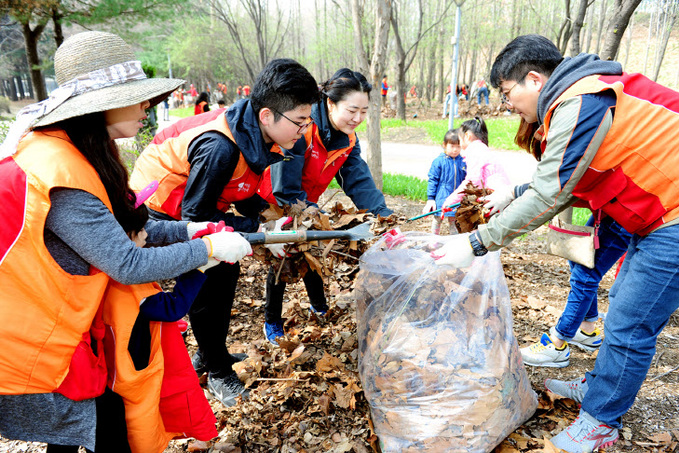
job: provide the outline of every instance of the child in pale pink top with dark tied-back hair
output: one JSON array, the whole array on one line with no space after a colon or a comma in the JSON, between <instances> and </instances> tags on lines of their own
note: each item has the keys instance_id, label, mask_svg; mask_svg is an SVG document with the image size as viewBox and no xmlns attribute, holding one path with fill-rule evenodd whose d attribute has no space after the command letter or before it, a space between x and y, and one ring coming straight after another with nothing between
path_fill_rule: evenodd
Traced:
<instances>
[{"instance_id":1,"label":"child in pale pink top with dark tied-back hair","mask_svg":"<svg viewBox=\"0 0 679 453\"><path fill-rule=\"evenodd\" d=\"M483 119L474 117L460 126L460 146L467 164L467 176L464 181L450 194L444 206L459 203L462 200L464 188L471 182L486 189L504 189L511 186L504 168L492 160L488 150L488 128Z\"/></svg>"}]
</instances>

